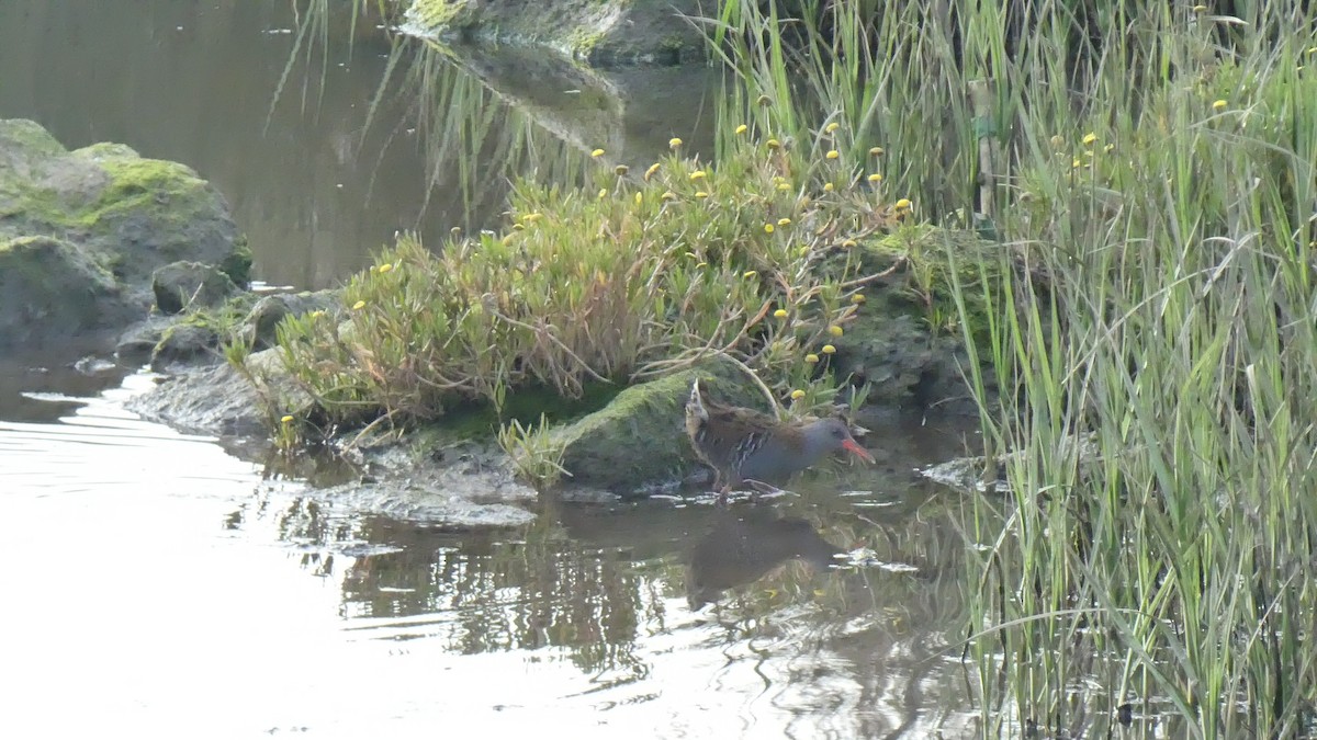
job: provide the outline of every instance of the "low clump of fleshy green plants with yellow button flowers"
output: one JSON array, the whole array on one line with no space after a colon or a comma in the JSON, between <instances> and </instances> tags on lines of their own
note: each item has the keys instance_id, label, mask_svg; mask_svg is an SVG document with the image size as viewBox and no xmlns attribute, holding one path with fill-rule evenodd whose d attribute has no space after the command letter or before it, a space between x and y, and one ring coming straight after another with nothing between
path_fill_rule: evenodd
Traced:
<instances>
[{"instance_id":1,"label":"low clump of fleshy green plants with yellow button flowers","mask_svg":"<svg viewBox=\"0 0 1317 740\"><path fill-rule=\"evenodd\" d=\"M780 142L747 136L716 167L670 146L643 174L601 151L587 188L523 182L502 233L437 254L403 237L346 286L349 323L287 320L282 359L312 399L299 416L406 424L471 399L502 408L525 387L578 398L712 353L781 398L807 386L806 356L860 309L848 253L905 213Z\"/></svg>"}]
</instances>

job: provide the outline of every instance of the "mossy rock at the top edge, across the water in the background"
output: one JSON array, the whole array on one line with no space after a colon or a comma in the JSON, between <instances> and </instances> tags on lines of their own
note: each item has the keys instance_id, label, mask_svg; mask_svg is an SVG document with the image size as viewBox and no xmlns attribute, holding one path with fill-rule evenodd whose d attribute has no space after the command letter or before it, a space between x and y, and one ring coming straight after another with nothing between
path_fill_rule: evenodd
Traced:
<instances>
[{"instance_id":1,"label":"mossy rock at the top edge, across the water in the background","mask_svg":"<svg viewBox=\"0 0 1317 740\"><path fill-rule=\"evenodd\" d=\"M404 29L427 38L547 46L594 66L677 65L705 57L687 18L698 0L415 0Z\"/></svg>"}]
</instances>

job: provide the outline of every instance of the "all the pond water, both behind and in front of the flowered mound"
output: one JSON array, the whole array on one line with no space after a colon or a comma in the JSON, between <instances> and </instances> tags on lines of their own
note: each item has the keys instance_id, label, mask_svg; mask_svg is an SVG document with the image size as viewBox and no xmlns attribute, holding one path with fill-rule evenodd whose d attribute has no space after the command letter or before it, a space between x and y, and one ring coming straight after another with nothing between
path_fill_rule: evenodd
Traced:
<instances>
[{"instance_id":1,"label":"all the pond water, both behind and in front of the flowered mound","mask_svg":"<svg viewBox=\"0 0 1317 740\"><path fill-rule=\"evenodd\" d=\"M497 212L502 175L477 196L435 179L474 154L423 141L444 126L406 96L365 112L375 36L323 78L319 57L294 65L271 105L290 8L8 0L0 116L194 166L277 283L332 284L396 228L478 223L473 198ZM598 140L643 162L640 142L698 136L535 117L482 87L500 74L444 84L520 125L477 147L512 141L504 169L569 180ZM706 88L672 83L656 99L694 117L677 99ZM877 431L877 466L759 506L547 498L528 527L453 532L336 508L232 440L145 423L122 404L151 375L62 349L0 358L0 736L973 735L960 502L911 474L963 429Z\"/></svg>"}]
</instances>

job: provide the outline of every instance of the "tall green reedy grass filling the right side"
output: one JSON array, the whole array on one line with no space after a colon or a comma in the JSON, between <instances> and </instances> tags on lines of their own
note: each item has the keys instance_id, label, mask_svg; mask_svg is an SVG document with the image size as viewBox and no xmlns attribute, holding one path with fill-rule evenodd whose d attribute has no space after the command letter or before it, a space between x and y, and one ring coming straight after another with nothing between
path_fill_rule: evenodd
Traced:
<instances>
[{"instance_id":1,"label":"tall green reedy grass filling the right side","mask_svg":"<svg viewBox=\"0 0 1317 740\"><path fill-rule=\"evenodd\" d=\"M730 120L839 122L853 166L885 141L888 182L1006 246L947 249L1015 453L965 521L981 732L1313 735L1312 8L732 5Z\"/></svg>"}]
</instances>

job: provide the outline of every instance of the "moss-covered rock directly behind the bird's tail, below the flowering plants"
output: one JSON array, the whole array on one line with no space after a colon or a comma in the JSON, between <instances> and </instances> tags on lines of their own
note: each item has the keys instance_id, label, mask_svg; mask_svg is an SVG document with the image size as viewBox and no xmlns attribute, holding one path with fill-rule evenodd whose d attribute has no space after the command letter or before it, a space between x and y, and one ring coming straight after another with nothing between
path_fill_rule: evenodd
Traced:
<instances>
[{"instance_id":1,"label":"moss-covered rock directly behind the bird's tail, below the flowering plants","mask_svg":"<svg viewBox=\"0 0 1317 740\"><path fill-rule=\"evenodd\" d=\"M553 431L564 446L570 485L630 494L695 470L699 463L686 438L685 408L697 373L716 400L768 408L740 370L719 359L631 386L602 410Z\"/></svg>"}]
</instances>

